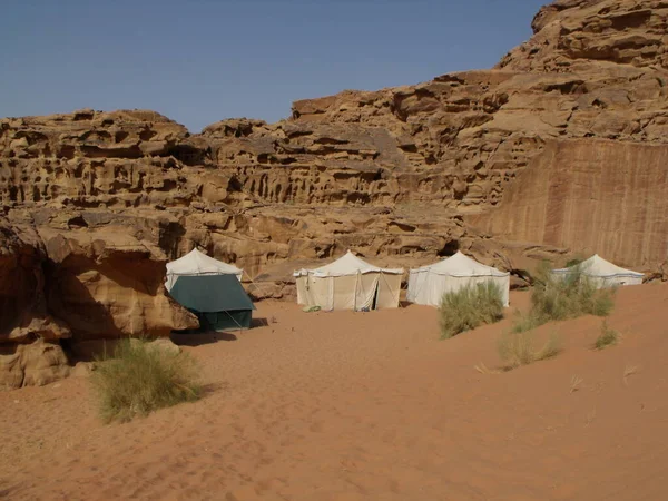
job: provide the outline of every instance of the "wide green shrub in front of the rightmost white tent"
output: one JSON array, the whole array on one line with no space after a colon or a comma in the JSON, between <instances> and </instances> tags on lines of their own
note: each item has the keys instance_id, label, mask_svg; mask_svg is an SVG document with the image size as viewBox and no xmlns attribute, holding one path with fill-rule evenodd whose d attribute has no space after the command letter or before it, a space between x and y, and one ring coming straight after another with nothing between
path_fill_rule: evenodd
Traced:
<instances>
[{"instance_id":1,"label":"wide green shrub in front of the rightmost white tent","mask_svg":"<svg viewBox=\"0 0 668 501\"><path fill-rule=\"evenodd\" d=\"M615 306L613 288L598 288L578 266L563 276L553 276L549 264L539 266L531 293L531 310L518 315L513 331L531 331L550 321L581 315L607 316Z\"/></svg>"}]
</instances>

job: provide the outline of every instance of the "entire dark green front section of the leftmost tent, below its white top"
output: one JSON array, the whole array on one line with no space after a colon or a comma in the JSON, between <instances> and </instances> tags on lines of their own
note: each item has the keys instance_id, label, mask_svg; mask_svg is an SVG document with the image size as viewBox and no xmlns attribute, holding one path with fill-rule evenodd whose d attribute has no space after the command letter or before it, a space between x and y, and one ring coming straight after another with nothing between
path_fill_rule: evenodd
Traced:
<instances>
[{"instance_id":1,"label":"entire dark green front section of the leftmost tent, below its white top","mask_svg":"<svg viewBox=\"0 0 668 501\"><path fill-rule=\"evenodd\" d=\"M236 275L179 276L171 297L199 318L199 331L249 328L253 302Z\"/></svg>"}]
</instances>

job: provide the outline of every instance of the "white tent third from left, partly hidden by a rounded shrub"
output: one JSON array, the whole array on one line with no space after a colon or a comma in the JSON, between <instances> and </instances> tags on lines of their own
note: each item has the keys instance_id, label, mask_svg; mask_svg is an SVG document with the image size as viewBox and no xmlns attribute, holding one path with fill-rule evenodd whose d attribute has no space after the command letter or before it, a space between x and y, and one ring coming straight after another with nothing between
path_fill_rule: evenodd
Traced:
<instances>
[{"instance_id":1,"label":"white tent third from left, partly hidden by a rounded shrub","mask_svg":"<svg viewBox=\"0 0 668 501\"><path fill-rule=\"evenodd\" d=\"M503 306L508 306L510 273L480 264L458 252L439 263L411 269L406 297L412 303L440 306L443 294L488 281L499 285Z\"/></svg>"}]
</instances>

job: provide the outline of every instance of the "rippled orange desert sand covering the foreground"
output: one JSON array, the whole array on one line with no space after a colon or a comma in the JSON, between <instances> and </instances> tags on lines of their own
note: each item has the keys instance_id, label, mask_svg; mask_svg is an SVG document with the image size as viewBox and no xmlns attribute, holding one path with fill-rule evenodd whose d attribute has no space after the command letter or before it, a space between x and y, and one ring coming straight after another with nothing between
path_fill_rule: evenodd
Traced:
<instances>
[{"instance_id":1,"label":"rippled orange desert sand covering the foreground","mask_svg":"<svg viewBox=\"0 0 668 501\"><path fill-rule=\"evenodd\" d=\"M0 393L0 498L668 499L668 285L618 293L620 345L550 324L564 351L500 374L474 365L508 320L441 342L430 307L256 316L185 348L202 401L131 423L102 424L85 377Z\"/></svg>"}]
</instances>

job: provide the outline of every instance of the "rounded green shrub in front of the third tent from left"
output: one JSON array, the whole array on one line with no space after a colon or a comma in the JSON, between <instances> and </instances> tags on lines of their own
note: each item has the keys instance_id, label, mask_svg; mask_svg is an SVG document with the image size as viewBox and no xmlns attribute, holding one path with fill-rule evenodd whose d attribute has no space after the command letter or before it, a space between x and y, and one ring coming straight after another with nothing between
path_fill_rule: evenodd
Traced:
<instances>
[{"instance_id":1,"label":"rounded green shrub in front of the third tent from left","mask_svg":"<svg viewBox=\"0 0 668 501\"><path fill-rule=\"evenodd\" d=\"M446 340L482 324L503 318L503 294L493 282L469 285L441 299L441 338Z\"/></svg>"}]
</instances>

